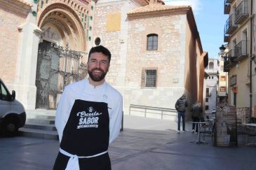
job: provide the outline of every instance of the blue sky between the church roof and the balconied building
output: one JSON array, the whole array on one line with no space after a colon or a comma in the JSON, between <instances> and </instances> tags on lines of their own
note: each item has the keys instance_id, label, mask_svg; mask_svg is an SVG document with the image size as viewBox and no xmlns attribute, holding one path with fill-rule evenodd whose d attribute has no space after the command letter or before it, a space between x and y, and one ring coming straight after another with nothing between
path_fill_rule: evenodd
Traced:
<instances>
[{"instance_id":1,"label":"blue sky between the church roof and the balconied building","mask_svg":"<svg viewBox=\"0 0 256 170\"><path fill-rule=\"evenodd\" d=\"M224 44L224 0L166 0L166 5L191 5L203 51L209 58L218 58L220 46Z\"/></svg>"}]
</instances>

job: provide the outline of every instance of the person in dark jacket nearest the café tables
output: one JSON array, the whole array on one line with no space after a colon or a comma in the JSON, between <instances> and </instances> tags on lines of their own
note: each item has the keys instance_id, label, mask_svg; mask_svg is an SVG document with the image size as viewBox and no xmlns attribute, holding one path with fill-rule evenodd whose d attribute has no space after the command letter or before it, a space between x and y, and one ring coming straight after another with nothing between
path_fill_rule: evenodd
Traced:
<instances>
[{"instance_id":1,"label":"person in dark jacket nearest the caf\u00e9 tables","mask_svg":"<svg viewBox=\"0 0 256 170\"><path fill-rule=\"evenodd\" d=\"M191 107L192 112L192 120L193 122L200 122L201 118L203 118L203 108L201 106L201 104L196 101L196 104L194 104ZM196 125L196 123L192 124L192 134L195 132L195 126L196 126L196 134L198 133L198 125Z\"/></svg>"}]
</instances>

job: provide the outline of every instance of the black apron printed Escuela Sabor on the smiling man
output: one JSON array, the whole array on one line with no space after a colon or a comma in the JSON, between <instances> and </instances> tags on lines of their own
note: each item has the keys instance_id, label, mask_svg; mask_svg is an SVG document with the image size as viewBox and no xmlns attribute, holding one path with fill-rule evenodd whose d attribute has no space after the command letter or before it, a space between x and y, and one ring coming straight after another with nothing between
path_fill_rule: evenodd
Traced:
<instances>
[{"instance_id":1,"label":"black apron printed Escuela Sabor on the smiling man","mask_svg":"<svg viewBox=\"0 0 256 170\"><path fill-rule=\"evenodd\" d=\"M104 102L76 99L63 130L60 148L78 157L90 157L107 151L109 147L109 112ZM69 157L59 152L53 169L67 167ZM81 170L109 170L108 153L79 158Z\"/></svg>"}]
</instances>

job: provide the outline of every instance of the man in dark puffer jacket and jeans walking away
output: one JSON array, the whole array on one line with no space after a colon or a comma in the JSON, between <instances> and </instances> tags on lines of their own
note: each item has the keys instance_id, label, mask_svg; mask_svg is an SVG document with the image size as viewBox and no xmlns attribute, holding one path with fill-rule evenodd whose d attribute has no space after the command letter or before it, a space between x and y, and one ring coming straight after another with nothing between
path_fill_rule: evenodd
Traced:
<instances>
[{"instance_id":1,"label":"man in dark puffer jacket and jeans walking away","mask_svg":"<svg viewBox=\"0 0 256 170\"><path fill-rule=\"evenodd\" d=\"M180 118L182 118L182 130L185 132L185 112L186 112L186 107L188 106L187 104L187 99L186 99L186 94L183 94L180 99L177 99L175 108L177 110L177 133L180 134Z\"/></svg>"}]
</instances>

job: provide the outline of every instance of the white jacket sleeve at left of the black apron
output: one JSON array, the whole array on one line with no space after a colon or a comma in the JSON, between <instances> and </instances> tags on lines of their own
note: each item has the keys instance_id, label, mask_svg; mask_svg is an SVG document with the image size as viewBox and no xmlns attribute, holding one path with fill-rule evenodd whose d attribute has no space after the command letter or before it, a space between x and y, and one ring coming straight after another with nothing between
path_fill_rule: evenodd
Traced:
<instances>
[{"instance_id":1,"label":"white jacket sleeve at left of the black apron","mask_svg":"<svg viewBox=\"0 0 256 170\"><path fill-rule=\"evenodd\" d=\"M61 142L63 130L69 118L69 95L67 94L67 88L60 97L60 101L57 107L56 116L55 116L55 127L58 131L59 141Z\"/></svg>"}]
</instances>

